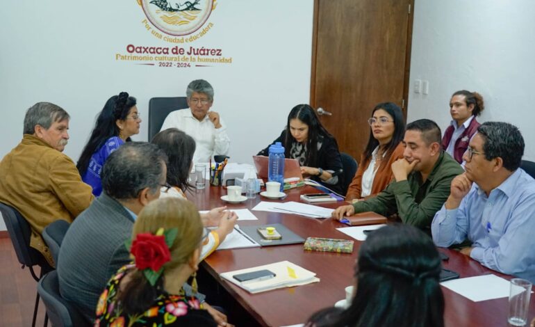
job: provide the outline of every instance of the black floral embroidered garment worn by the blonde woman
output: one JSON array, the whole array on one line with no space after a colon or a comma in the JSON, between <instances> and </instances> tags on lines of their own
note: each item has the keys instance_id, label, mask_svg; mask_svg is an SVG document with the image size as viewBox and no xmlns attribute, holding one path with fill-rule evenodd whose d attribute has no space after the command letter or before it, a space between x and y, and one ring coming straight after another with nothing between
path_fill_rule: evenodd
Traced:
<instances>
[{"instance_id":1,"label":"black floral embroidered garment worn by the blonde woman","mask_svg":"<svg viewBox=\"0 0 535 327\"><path fill-rule=\"evenodd\" d=\"M208 311L194 297L161 294L152 303L149 310L140 314L122 314L121 303L117 303L117 289L129 269L135 266L123 266L112 276L97 304L97 319L94 326L217 326Z\"/></svg>"}]
</instances>

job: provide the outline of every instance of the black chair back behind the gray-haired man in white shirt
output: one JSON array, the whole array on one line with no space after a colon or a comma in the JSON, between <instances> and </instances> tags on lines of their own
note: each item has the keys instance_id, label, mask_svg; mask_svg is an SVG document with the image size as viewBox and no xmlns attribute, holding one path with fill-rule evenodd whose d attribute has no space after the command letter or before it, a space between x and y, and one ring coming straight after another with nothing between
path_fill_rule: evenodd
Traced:
<instances>
[{"instance_id":1,"label":"black chair back behind the gray-haired man in white shirt","mask_svg":"<svg viewBox=\"0 0 535 327\"><path fill-rule=\"evenodd\" d=\"M162 128L171 111L187 109L186 97L153 97L149 100L149 142Z\"/></svg>"}]
</instances>

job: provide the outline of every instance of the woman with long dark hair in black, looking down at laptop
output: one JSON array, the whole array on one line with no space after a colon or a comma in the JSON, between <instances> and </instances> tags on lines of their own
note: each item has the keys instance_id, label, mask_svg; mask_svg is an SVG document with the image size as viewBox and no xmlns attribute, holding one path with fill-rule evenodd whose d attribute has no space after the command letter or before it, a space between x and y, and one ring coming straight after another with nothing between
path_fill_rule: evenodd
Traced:
<instances>
[{"instance_id":1,"label":"woman with long dark hair in black, looking down at laptop","mask_svg":"<svg viewBox=\"0 0 535 327\"><path fill-rule=\"evenodd\" d=\"M281 142L286 158L297 159L304 177L320 182L340 193L343 185L343 166L338 143L320 122L308 104L298 104L288 115L286 129L273 141ZM258 155L268 156L269 146Z\"/></svg>"}]
</instances>

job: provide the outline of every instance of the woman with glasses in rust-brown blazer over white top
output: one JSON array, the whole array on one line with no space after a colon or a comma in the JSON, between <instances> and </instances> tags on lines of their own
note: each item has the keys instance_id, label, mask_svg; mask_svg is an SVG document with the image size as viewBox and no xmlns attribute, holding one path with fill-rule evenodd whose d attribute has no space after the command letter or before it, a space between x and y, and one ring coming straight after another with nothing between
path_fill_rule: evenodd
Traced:
<instances>
[{"instance_id":1,"label":"woman with glasses in rust-brown blazer over white top","mask_svg":"<svg viewBox=\"0 0 535 327\"><path fill-rule=\"evenodd\" d=\"M345 200L348 202L375 196L386 189L393 177L390 166L403 158L405 122L400 107L392 102L377 104L368 123L370 137L347 188Z\"/></svg>"}]
</instances>

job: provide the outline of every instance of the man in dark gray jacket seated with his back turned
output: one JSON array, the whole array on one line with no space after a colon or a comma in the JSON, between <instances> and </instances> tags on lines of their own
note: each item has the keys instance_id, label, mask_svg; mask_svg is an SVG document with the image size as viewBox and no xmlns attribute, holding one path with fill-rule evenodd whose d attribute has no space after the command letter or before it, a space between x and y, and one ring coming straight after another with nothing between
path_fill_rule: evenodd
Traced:
<instances>
[{"instance_id":1,"label":"man in dark gray jacket seated with his back turned","mask_svg":"<svg viewBox=\"0 0 535 327\"><path fill-rule=\"evenodd\" d=\"M167 156L158 146L129 142L102 168L103 193L71 224L58 257L61 295L92 321L101 292L131 260L124 241L145 205L160 197Z\"/></svg>"}]
</instances>

